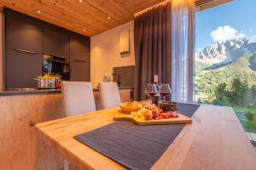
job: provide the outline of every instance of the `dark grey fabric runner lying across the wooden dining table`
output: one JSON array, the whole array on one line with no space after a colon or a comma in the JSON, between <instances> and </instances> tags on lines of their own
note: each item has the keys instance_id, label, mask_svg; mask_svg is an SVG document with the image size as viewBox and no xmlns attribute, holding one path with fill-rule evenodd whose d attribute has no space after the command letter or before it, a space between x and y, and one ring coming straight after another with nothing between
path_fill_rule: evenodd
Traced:
<instances>
[{"instance_id":1,"label":"dark grey fabric runner lying across the wooden dining table","mask_svg":"<svg viewBox=\"0 0 256 170\"><path fill-rule=\"evenodd\" d=\"M193 116L200 105L179 104L178 111ZM75 136L83 144L130 169L149 169L172 144L185 125L137 126L133 122L113 122Z\"/></svg>"}]
</instances>

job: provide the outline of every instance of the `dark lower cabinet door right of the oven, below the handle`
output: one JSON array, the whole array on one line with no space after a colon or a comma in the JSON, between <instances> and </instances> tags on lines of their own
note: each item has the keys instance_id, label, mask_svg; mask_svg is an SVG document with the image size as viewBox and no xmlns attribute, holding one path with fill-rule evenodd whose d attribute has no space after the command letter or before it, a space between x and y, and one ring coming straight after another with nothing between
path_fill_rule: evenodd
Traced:
<instances>
[{"instance_id":1,"label":"dark lower cabinet door right of the oven, below the handle","mask_svg":"<svg viewBox=\"0 0 256 170\"><path fill-rule=\"evenodd\" d=\"M90 82L90 63L82 59L71 59L71 76L73 82Z\"/></svg>"}]
</instances>

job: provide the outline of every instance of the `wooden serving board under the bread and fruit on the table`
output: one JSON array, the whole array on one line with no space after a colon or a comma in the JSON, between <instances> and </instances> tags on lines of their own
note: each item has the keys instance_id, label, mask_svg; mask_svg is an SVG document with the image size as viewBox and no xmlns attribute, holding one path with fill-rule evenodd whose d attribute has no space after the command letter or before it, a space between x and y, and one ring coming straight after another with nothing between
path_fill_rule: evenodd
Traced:
<instances>
[{"instance_id":1,"label":"wooden serving board under the bread and fruit on the table","mask_svg":"<svg viewBox=\"0 0 256 170\"><path fill-rule=\"evenodd\" d=\"M178 117L168 118L168 119L160 119L160 120L145 120L144 117L137 117L131 115L121 115L121 116L113 116L114 121L131 121L137 125L162 125L162 124L184 124L191 123L192 119L187 116L183 116L182 114L178 114Z\"/></svg>"}]
</instances>

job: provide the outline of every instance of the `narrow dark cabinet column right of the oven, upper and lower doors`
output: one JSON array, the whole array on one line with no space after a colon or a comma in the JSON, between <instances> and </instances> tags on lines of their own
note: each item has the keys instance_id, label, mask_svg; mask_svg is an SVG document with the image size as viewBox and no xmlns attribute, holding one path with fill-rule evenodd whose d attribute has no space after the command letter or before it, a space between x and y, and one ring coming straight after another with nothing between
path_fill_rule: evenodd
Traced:
<instances>
[{"instance_id":1,"label":"narrow dark cabinet column right of the oven, upper and lower doors","mask_svg":"<svg viewBox=\"0 0 256 170\"><path fill-rule=\"evenodd\" d=\"M78 34L70 37L70 79L73 82L90 81L90 38Z\"/></svg>"}]
</instances>

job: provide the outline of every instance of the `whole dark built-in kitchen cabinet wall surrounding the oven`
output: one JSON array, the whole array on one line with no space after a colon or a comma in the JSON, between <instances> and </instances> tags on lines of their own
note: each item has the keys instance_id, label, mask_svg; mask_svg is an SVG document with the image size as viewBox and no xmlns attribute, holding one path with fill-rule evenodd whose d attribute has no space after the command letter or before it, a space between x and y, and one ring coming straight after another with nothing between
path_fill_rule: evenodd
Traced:
<instances>
[{"instance_id":1,"label":"whole dark built-in kitchen cabinet wall surrounding the oven","mask_svg":"<svg viewBox=\"0 0 256 170\"><path fill-rule=\"evenodd\" d=\"M90 37L4 8L6 88L36 88L43 55L63 57L71 81L90 81Z\"/></svg>"}]
</instances>

